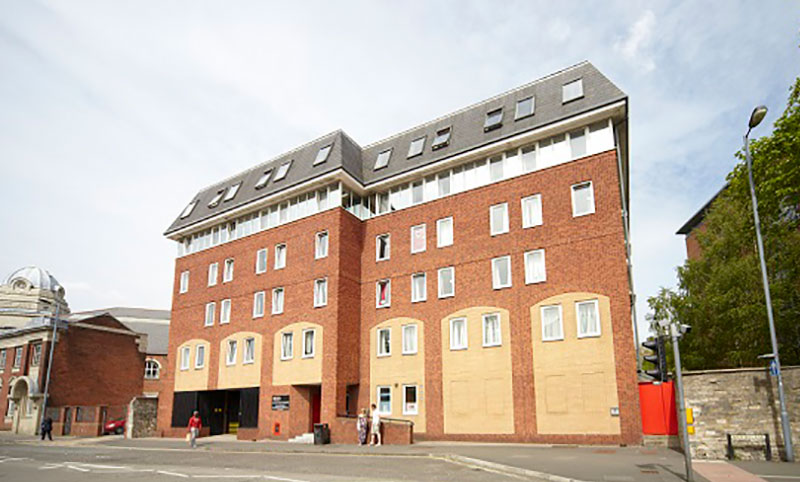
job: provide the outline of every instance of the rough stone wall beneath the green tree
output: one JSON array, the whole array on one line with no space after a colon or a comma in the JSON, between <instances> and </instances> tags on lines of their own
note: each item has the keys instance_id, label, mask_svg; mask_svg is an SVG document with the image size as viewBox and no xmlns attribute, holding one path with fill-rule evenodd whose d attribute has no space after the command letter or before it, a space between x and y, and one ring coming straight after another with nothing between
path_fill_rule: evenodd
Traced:
<instances>
[{"instance_id":1,"label":"rough stone wall beneath the green tree","mask_svg":"<svg viewBox=\"0 0 800 482\"><path fill-rule=\"evenodd\" d=\"M783 367L783 387L789 409L795 457L800 456L800 367ZM733 438L735 457L765 458L763 436L769 434L772 457L783 452L780 403L776 377L766 368L741 368L684 373L686 407L694 412L690 435L697 458L723 459L726 434Z\"/></svg>"}]
</instances>

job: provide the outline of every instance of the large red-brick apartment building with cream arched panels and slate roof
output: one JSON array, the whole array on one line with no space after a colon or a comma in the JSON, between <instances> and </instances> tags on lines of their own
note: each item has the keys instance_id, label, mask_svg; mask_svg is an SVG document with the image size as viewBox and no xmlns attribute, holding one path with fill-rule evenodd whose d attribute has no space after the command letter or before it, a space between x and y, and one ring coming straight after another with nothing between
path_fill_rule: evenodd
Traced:
<instances>
[{"instance_id":1,"label":"large red-brick apartment building with cream arched panels and slate roof","mask_svg":"<svg viewBox=\"0 0 800 482\"><path fill-rule=\"evenodd\" d=\"M210 433L352 440L375 403L417 438L638 443L627 112L584 62L201 190L165 233L161 433L199 409Z\"/></svg>"}]
</instances>

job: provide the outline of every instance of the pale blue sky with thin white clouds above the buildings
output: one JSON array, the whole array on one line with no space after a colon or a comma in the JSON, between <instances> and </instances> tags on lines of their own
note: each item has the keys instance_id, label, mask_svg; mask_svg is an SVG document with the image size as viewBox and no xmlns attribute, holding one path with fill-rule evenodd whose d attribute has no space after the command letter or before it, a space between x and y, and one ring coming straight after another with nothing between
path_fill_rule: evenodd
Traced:
<instances>
[{"instance_id":1,"label":"pale blue sky with thin white clouds above the buildings","mask_svg":"<svg viewBox=\"0 0 800 482\"><path fill-rule=\"evenodd\" d=\"M583 60L629 96L639 325L755 105L800 75L800 2L0 0L0 278L73 311L169 309L202 187L343 129L361 145ZM0 281L2 281L0 279Z\"/></svg>"}]
</instances>

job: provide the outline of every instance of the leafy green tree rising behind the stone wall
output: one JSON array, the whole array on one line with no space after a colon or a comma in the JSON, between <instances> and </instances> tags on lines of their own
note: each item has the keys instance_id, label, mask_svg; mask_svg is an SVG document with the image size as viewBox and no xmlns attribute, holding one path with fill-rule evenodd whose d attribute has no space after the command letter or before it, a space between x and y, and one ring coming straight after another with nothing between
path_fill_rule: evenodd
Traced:
<instances>
[{"instance_id":1,"label":"leafy green tree rising behind the stone wall","mask_svg":"<svg viewBox=\"0 0 800 482\"><path fill-rule=\"evenodd\" d=\"M750 144L781 363L800 364L800 78L772 134ZM771 353L743 152L697 230L702 257L678 267L678 289L648 299L692 326L686 369L761 366Z\"/></svg>"}]
</instances>

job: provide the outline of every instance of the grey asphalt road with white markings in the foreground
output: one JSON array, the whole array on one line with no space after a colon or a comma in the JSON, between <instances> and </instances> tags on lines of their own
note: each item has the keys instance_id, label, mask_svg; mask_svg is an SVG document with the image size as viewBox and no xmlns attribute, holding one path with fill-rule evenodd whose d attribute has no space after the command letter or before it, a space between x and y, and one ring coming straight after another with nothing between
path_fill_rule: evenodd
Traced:
<instances>
[{"instance_id":1,"label":"grey asphalt road with white markings in the foreground","mask_svg":"<svg viewBox=\"0 0 800 482\"><path fill-rule=\"evenodd\" d=\"M0 481L486 481L499 473L431 457L214 453L102 446L0 446Z\"/></svg>"}]
</instances>

